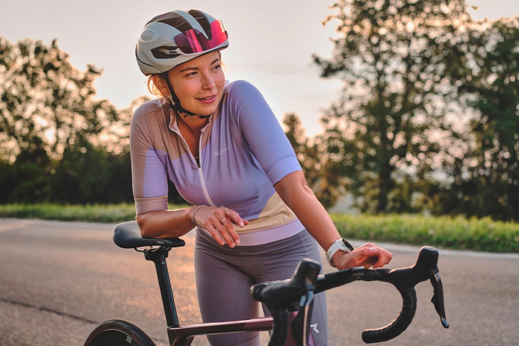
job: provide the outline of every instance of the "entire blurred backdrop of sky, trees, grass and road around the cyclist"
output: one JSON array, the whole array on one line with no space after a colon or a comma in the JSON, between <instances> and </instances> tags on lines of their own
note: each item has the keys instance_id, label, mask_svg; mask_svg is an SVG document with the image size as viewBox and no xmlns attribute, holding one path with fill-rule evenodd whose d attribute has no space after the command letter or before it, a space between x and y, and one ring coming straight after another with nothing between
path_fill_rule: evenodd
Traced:
<instances>
[{"instance_id":1,"label":"entire blurred backdrop of sky, trees, grass and road around the cyclist","mask_svg":"<svg viewBox=\"0 0 519 346\"><path fill-rule=\"evenodd\" d=\"M153 266L112 231L135 216L129 124L152 97L136 39L192 8L222 19L227 79L260 89L343 237L386 242L391 268L415 261L409 244L440 249L452 327L422 285L389 344L517 344L518 0L5 2L0 344L80 345L111 317L167 344ZM172 186L169 201L184 203ZM192 233L170 256L182 324L200 320ZM400 309L385 286L351 286L329 295L330 344Z\"/></svg>"}]
</instances>

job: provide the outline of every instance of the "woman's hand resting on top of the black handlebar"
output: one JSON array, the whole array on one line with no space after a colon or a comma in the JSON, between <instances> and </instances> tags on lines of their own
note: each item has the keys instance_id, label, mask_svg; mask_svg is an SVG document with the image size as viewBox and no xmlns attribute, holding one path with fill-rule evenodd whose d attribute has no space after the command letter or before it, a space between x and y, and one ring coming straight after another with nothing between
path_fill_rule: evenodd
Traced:
<instances>
[{"instance_id":1,"label":"woman's hand resting on top of the black handlebar","mask_svg":"<svg viewBox=\"0 0 519 346\"><path fill-rule=\"evenodd\" d=\"M366 243L346 254L343 251L335 252L333 263L337 269L348 269L353 267L364 267L374 269L384 267L393 258L393 254L375 244Z\"/></svg>"}]
</instances>

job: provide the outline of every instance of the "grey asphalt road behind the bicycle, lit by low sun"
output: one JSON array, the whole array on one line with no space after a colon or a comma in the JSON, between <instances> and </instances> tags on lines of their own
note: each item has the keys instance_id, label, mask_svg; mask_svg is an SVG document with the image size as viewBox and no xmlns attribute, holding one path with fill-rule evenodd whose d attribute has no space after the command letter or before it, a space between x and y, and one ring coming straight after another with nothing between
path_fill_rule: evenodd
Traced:
<instances>
[{"instance_id":1,"label":"grey asphalt road behind the bicycle, lit by low sun","mask_svg":"<svg viewBox=\"0 0 519 346\"><path fill-rule=\"evenodd\" d=\"M0 219L0 345L83 345L109 318L124 318L167 344L152 262L112 242L113 224ZM193 236L168 258L182 325L200 322L192 265ZM352 242L354 246L360 242ZM382 244L391 268L416 260L418 247ZM519 344L519 255L440 250L449 329L417 286L413 323L390 345ZM391 322L401 298L384 283L355 282L329 291L330 345L362 345L361 332ZM264 333L265 334L265 333ZM266 335L263 339L266 339ZM206 345L203 337L193 345Z\"/></svg>"}]
</instances>

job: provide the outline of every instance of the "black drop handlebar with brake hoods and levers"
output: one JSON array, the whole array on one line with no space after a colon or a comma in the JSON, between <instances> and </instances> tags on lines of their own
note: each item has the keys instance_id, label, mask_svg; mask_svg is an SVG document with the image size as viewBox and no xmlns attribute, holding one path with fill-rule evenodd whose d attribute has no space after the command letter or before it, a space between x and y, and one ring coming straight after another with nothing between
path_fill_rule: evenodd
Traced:
<instances>
[{"instance_id":1,"label":"black drop handlebar with brake hoods and levers","mask_svg":"<svg viewBox=\"0 0 519 346\"><path fill-rule=\"evenodd\" d=\"M368 270L358 267L317 276L320 264L305 259L299 263L292 278L254 285L251 287L251 293L256 300L267 305L274 317L274 329L272 329L272 337L269 342L269 346L272 346L284 344L288 334L288 309L297 310L297 307L294 308L294 304L297 304L297 301L304 297L306 292L313 291L317 294L356 280L391 283L402 296L402 310L397 318L387 326L367 329L362 332L364 342L382 342L399 336L411 324L416 311L416 291L414 287L426 280L430 280L434 288L431 302L440 315L442 325L444 328L449 327L445 318L443 288L437 265L438 250L430 246L424 246L420 249L416 263L411 267L392 270ZM279 314L282 316L277 316ZM278 326L276 326L276 323L278 323Z\"/></svg>"}]
</instances>

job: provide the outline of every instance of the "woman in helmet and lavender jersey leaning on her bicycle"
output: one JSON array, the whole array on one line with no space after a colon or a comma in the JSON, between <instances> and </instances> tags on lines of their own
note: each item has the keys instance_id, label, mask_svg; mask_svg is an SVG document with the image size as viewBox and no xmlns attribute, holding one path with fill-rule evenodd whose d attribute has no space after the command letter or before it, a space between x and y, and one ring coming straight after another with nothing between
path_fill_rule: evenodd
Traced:
<instances>
[{"instance_id":1,"label":"woman in helmet and lavender jersey leaning on her bicycle","mask_svg":"<svg viewBox=\"0 0 519 346\"><path fill-rule=\"evenodd\" d=\"M258 316L250 286L290 277L303 258L320 261L317 243L338 269L378 268L392 257L373 244L353 249L340 238L260 92L225 81L220 51L228 44L221 21L190 10L155 17L136 46L148 87L162 96L132 117L136 220L145 237L177 237L196 227L204 323ZM168 178L192 207L168 210ZM311 324L317 324L313 342L326 344L324 294L316 297ZM260 344L257 333L208 339Z\"/></svg>"}]
</instances>

